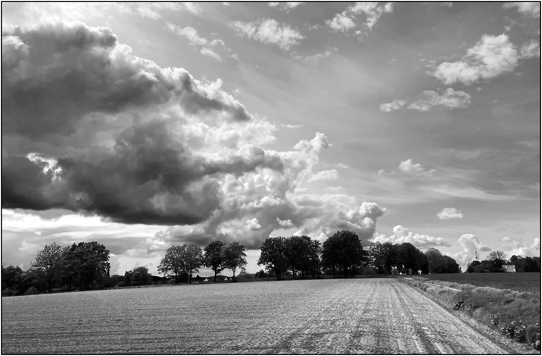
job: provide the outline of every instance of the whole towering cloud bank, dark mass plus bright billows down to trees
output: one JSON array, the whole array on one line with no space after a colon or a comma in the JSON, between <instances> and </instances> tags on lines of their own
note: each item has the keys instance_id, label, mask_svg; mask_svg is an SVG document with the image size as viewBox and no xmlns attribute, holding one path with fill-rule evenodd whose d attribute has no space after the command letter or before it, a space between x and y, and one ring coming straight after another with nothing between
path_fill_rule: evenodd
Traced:
<instances>
[{"instance_id":1,"label":"whole towering cloud bank, dark mass plus bright billows down to trees","mask_svg":"<svg viewBox=\"0 0 542 356\"><path fill-rule=\"evenodd\" d=\"M203 43L197 31L182 33ZM266 149L275 125L249 113L220 79L138 58L109 28L15 28L3 33L2 51L6 211L65 209L160 226L136 246L122 240L116 251L131 245L133 258L216 238L257 249L270 234L298 230L323 237L349 228L368 243L386 212L312 188L338 176L319 163L331 147L324 133Z\"/></svg>"}]
</instances>

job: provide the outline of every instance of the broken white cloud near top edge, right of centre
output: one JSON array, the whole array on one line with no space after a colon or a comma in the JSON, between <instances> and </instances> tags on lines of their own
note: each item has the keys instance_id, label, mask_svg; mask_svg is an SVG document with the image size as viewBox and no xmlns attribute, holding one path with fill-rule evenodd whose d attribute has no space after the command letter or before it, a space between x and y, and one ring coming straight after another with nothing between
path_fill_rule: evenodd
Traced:
<instances>
[{"instance_id":1,"label":"broken white cloud near top edge, right of centre","mask_svg":"<svg viewBox=\"0 0 542 356\"><path fill-rule=\"evenodd\" d=\"M357 2L340 14L335 14L332 20L326 20L325 23L334 31L347 32L357 27L354 20L358 15L364 14L366 20L363 24L365 28L372 30L380 16L386 12L393 12L392 2L382 5L378 5L378 2ZM356 33L359 34L361 31L358 30Z\"/></svg>"}]
</instances>

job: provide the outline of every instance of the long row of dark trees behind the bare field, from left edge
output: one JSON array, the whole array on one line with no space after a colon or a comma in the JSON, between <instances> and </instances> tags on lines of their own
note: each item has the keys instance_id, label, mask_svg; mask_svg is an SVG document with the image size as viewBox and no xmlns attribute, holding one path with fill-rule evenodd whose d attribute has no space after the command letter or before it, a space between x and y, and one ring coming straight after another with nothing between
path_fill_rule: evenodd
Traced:
<instances>
[{"instance_id":1,"label":"long row of dark trees behind the bare field, from left edge","mask_svg":"<svg viewBox=\"0 0 542 356\"><path fill-rule=\"evenodd\" d=\"M267 275L277 280L286 276L306 278L322 274L347 277L367 273L428 274L457 273L461 270L453 258L442 255L437 249L422 252L411 243L389 242L371 243L367 247L364 250L358 235L348 230L335 232L323 244L305 235L268 237L260 245L257 264L263 265ZM179 281L191 283L193 276L205 266L214 271L216 282L217 275L224 269L233 271L234 278L238 270L247 275L244 269L246 257L246 247L238 241L227 244L214 240L203 249L196 243L185 243L166 250L158 265L158 272L176 284ZM529 265L527 259L517 258L519 264ZM51 292L55 287L65 286L68 291L73 287L127 287L152 284L162 279L150 275L145 266L126 271L124 276L109 276L111 266L108 261L109 250L96 241L66 247L52 243L37 253L27 271L19 266L2 266L2 289L7 288L11 294L16 288L22 294L32 286ZM259 277L263 275L263 270L256 274Z\"/></svg>"}]
</instances>

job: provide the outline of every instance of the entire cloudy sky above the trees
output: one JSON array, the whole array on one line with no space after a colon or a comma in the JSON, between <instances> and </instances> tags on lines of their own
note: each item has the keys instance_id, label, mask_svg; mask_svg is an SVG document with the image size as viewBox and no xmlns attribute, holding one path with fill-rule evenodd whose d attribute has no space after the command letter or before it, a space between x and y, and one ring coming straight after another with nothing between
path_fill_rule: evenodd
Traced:
<instances>
[{"instance_id":1,"label":"entire cloudy sky above the trees","mask_svg":"<svg viewBox=\"0 0 542 356\"><path fill-rule=\"evenodd\" d=\"M539 256L540 3L2 3L2 264L343 229Z\"/></svg>"}]
</instances>

